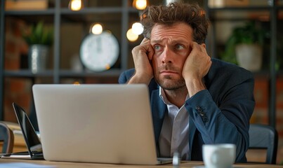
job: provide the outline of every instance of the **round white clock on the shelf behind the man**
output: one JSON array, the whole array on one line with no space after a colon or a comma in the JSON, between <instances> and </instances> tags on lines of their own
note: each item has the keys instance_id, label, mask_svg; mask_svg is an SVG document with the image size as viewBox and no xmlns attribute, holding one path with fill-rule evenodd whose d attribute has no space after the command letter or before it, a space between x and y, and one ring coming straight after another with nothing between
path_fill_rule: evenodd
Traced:
<instances>
[{"instance_id":1,"label":"round white clock on the shelf behind the man","mask_svg":"<svg viewBox=\"0 0 283 168\"><path fill-rule=\"evenodd\" d=\"M105 71L117 61L119 57L119 43L109 31L101 34L88 34L81 43L80 58L86 69L91 71Z\"/></svg>"}]
</instances>

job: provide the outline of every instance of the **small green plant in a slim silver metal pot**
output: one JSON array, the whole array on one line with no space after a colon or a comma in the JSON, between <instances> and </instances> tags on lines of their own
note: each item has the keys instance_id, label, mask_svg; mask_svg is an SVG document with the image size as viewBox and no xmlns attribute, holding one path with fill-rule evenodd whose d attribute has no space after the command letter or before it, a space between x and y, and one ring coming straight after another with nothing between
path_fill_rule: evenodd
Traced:
<instances>
[{"instance_id":1,"label":"small green plant in a slim silver metal pot","mask_svg":"<svg viewBox=\"0 0 283 168\"><path fill-rule=\"evenodd\" d=\"M29 69L32 73L44 71L49 48L53 44L53 29L46 29L44 22L38 22L23 33L23 38L29 45Z\"/></svg>"}]
</instances>

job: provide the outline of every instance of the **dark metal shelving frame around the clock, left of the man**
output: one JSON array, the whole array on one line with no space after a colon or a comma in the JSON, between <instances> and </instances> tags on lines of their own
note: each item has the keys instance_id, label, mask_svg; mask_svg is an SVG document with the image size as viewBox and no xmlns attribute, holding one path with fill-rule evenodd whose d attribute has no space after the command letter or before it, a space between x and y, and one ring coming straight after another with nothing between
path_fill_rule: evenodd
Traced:
<instances>
[{"instance_id":1,"label":"dark metal shelving frame around the clock, left of the man","mask_svg":"<svg viewBox=\"0 0 283 168\"><path fill-rule=\"evenodd\" d=\"M50 1L48 1L50 2ZM51 1L53 5L46 10L5 10L5 0L0 1L0 120L4 118L4 79L5 78L52 78L53 83L61 83L60 80L64 78L117 78L121 71L129 69L129 41L126 39L126 31L129 29L129 17L131 14L137 15L138 10L129 6L128 0L122 0L121 6L101 6L101 7L85 7L79 11L72 11L69 8L62 6L62 0ZM54 7L53 7L54 6ZM110 70L102 72L87 71L73 71L60 68L60 41L61 33L60 26L62 19L65 16L73 15L88 15L100 13L118 13L121 15L121 31L119 38L120 54L119 67L113 67ZM28 69L6 70L4 68L5 59L5 20L6 17L20 18L27 20L27 22L38 22L41 18L48 18L48 22L53 25L54 41L53 41L53 67L40 73L32 73ZM34 20L29 20L34 17ZM76 20L74 21L76 22ZM84 22L84 20L77 21Z\"/></svg>"}]
</instances>

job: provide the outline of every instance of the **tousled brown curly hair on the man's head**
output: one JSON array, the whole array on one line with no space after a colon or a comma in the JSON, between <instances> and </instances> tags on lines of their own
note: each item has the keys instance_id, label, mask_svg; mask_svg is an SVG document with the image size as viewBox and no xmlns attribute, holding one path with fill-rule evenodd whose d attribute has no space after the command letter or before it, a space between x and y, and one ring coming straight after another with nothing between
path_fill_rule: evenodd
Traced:
<instances>
[{"instance_id":1,"label":"tousled brown curly hair on the man's head","mask_svg":"<svg viewBox=\"0 0 283 168\"><path fill-rule=\"evenodd\" d=\"M209 20L204 10L197 4L172 2L168 6L147 6L140 15L144 27L143 35L150 38L154 25L171 26L176 22L185 22L193 29L192 38L197 43L204 43L209 27Z\"/></svg>"}]
</instances>

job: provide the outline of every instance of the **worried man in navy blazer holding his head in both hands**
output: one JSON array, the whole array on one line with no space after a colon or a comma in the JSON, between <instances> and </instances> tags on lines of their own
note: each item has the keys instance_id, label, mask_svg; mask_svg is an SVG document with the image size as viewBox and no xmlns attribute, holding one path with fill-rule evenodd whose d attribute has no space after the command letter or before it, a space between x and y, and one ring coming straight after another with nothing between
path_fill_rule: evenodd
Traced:
<instances>
[{"instance_id":1,"label":"worried man in navy blazer holding his head in both hands","mask_svg":"<svg viewBox=\"0 0 283 168\"><path fill-rule=\"evenodd\" d=\"M149 6L140 22L145 38L132 50L135 70L119 83L149 85L159 156L202 160L203 144L230 143L236 162L246 162L254 78L207 55L204 10L177 2Z\"/></svg>"}]
</instances>

